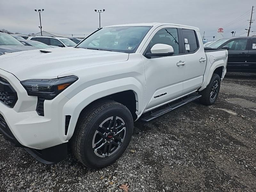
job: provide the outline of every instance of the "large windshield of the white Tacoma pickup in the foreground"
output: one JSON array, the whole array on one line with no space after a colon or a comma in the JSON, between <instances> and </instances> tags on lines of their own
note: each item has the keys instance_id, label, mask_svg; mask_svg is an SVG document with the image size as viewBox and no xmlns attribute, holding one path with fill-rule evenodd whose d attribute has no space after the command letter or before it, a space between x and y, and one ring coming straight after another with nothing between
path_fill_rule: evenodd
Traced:
<instances>
[{"instance_id":1,"label":"large windshield of the white Tacoma pickup in the foreground","mask_svg":"<svg viewBox=\"0 0 256 192\"><path fill-rule=\"evenodd\" d=\"M149 29L150 26L106 27L84 39L77 47L133 53Z\"/></svg>"}]
</instances>

